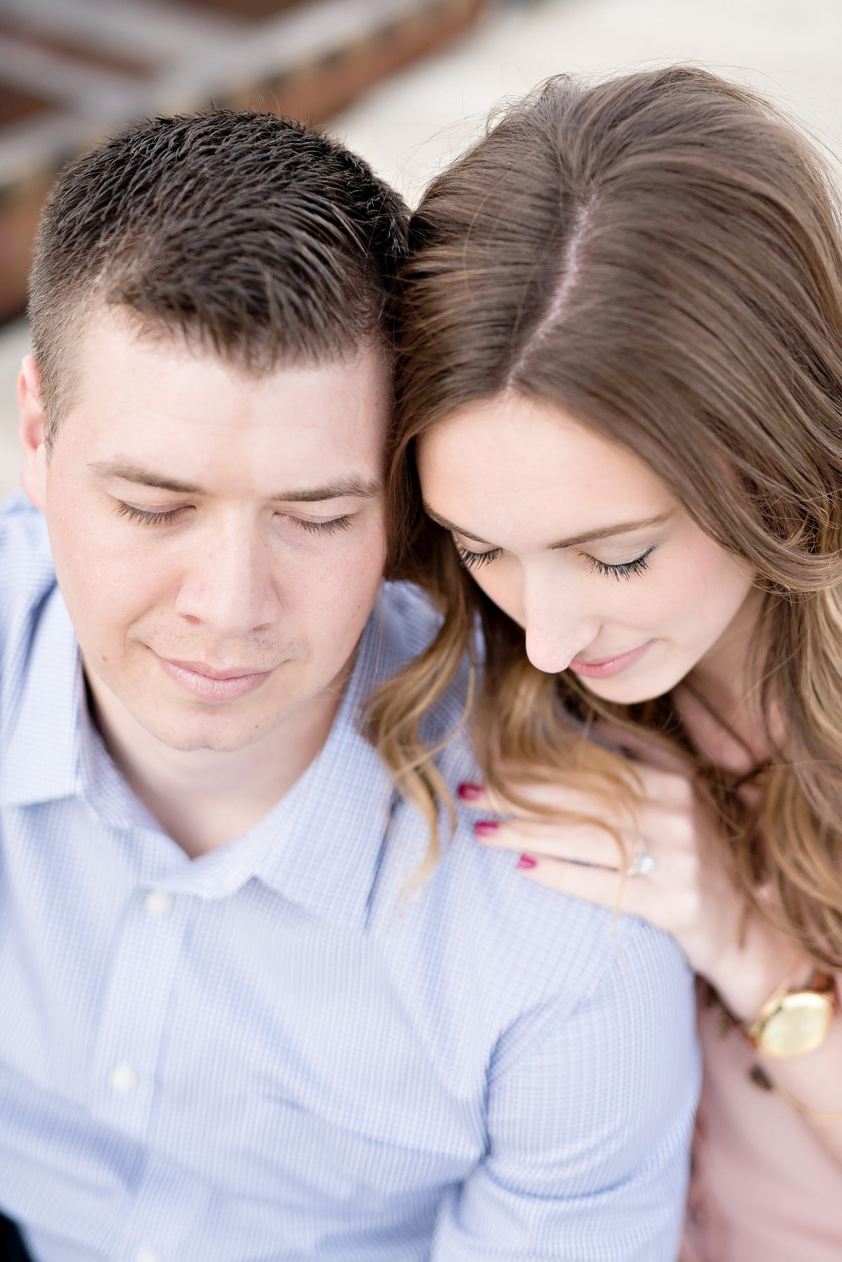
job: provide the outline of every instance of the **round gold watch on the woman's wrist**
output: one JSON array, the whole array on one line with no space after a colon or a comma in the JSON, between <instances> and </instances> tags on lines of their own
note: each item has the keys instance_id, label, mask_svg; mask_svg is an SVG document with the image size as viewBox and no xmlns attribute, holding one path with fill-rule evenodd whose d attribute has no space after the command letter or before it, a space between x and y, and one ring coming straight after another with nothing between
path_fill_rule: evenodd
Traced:
<instances>
[{"instance_id":1,"label":"round gold watch on the woman's wrist","mask_svg":"<svg viewBox=\"0 0 842 1262\"><path fill-rule=\"evenodd\" d=\"M822 1046L837 1011L836 978L817 968L805 986L776 991L744 1029L761 1056L794 1060Z\"/></svg>"}]
</instances>

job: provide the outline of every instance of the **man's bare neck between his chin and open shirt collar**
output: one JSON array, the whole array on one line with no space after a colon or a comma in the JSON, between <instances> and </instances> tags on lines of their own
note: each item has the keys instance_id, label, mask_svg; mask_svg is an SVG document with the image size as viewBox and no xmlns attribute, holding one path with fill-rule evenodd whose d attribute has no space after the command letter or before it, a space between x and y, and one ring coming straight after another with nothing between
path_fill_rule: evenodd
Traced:
<instances>
[{"instance_id":1,"label":"man's bare neck between his chin and open shirt collar","mask_svg":"<svg viewBox=\"0 0 842 1262\"><path fill-rule=\"evenodd\" d=\"M324 745L348 671L241 750L173 750L86 671L95 722L140 801L191 858L258 824Z\"/></svg>"}]
</instances>

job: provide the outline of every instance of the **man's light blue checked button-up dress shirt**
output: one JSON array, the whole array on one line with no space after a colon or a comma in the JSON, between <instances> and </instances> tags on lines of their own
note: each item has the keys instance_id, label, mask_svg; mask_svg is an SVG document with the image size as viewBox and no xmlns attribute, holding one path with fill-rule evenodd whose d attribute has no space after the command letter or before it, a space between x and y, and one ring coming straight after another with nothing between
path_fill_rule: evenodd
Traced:
<instances>
[{"instance_id":1,"label":"man's light blue checked button-up dress shirt","mask_svg":"<svg viewBox=\"0 0 842 1262\"><path fill-rule=\"evenodd\" d=\"M321 755L191 862L91 724L43 519L0 511L0 1209L38 1262L675 1257L673 941L467 819L406 893L425 827L355 713L430 628L386 587Z\"/></svg>"}]
</instances>

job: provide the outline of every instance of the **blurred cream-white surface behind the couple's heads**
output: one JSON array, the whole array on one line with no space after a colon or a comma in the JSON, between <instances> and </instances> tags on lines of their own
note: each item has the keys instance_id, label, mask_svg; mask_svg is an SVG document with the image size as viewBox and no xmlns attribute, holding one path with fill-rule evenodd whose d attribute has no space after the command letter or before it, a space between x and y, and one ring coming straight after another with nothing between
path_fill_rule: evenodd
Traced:
<instances>
[{"instance_id":1,"label":"blurred cream-white surface behind the couple's heads","mask_svg":"<svg viewBox=\"0 0 842 1262\"><path fill-rule=\"evenodd\" d=\"M543 0L379 85L333 130L414 203L499 102L559 71L697 62L774 97L842 154L842 0ZM16 482L19 323L0 332L0 495Z\"/></svg>"}]
</instances>

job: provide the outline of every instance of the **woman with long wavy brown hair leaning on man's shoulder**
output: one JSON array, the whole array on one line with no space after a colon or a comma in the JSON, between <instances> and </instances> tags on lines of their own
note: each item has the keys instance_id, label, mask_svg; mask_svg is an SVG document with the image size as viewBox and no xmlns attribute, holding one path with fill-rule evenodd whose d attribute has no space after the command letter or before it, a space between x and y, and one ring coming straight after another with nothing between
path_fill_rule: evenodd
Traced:
<instances>
[{"instance_id":1,"label":"woman with long wavy brown hair leaning on man's shoulder","mask_svg":"<svg viewBox=\"0 0 842 1262\"><path fill-rule=\"evenodd\" d=\"M703 983L687 1258L838 1259L831 180L712 74L560 78L433 183L410 241L391 492L444 622L374 734L432 815L417 716L478 621L477 835L669 930Z\"/></svg>"}]
</instances>

